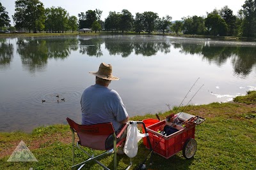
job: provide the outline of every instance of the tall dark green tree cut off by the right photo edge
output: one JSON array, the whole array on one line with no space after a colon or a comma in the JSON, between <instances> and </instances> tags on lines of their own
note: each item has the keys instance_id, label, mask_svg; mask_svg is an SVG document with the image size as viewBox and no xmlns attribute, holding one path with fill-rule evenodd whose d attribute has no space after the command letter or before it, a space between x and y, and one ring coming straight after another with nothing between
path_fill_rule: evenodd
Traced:
<instances>
[{"instance_id":1,"label":"tall dark green tree cut off by the right photo edge","mask_svg":"<svg viewBox=\"0 0 256 170\"><path fill-rule=\"evenodd\" d=\"M256 37L256 1L246 0L243 4L242 34L246 37Z\"/></svg>"}]
</instances>

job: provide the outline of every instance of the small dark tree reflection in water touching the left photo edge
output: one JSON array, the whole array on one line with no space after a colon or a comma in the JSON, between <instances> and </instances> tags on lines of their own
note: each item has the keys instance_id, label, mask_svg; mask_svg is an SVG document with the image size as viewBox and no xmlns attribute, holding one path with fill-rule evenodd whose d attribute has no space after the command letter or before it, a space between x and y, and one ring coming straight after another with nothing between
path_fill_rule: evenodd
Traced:
<instances>
[{"instance_id":1,"label":"small dark tree reflection in water touching the left photo edge","mask_svg":"<svg viewBox=\"0 0 256 170\"><path fill-rule=\"evenodd\" d=\"M10 40L7 42L7 39L0 39L0 43L0 65L6 68L13 59L13 44L10 44Z\"/></svg>"}]
</instances>

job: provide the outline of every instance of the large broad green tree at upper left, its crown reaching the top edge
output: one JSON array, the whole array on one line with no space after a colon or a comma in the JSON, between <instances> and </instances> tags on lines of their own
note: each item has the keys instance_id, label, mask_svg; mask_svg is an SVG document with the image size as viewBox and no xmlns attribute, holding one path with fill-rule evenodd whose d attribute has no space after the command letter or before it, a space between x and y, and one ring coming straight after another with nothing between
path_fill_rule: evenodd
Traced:
<instances>
[{"instance_id":1,"label":"large broad green tree at upper left, its crown reaching the top edge","mask_svg":"<svg viewBox=\"0 0 256 170\"><path fill-rule=\"evenodd\" d=\"M36 32L42 29L44 24L44 4L38 0L17 0L15 1L15 13L13 21L15 27L26 28L29 32Z\"/></svg>"}]
</instances>

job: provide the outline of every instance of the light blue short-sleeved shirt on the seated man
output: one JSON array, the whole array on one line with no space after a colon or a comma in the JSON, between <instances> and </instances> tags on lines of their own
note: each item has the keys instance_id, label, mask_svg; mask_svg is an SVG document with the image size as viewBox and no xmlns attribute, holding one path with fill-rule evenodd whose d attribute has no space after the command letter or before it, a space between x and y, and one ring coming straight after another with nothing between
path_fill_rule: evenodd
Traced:
<instances>
[{"instance_id":1,"label":"light blue short-sleeved shirt on the seated man","mask_svg":"<svg viewBox=\"0 0 256 170\"><path fill-rule=\"evenodd\" d=\"M102 85L87 87L81 97L82 124L91 125L112 122L115 131L128 117L124 103L115 90Z\"/></svg>"}]
</instances>

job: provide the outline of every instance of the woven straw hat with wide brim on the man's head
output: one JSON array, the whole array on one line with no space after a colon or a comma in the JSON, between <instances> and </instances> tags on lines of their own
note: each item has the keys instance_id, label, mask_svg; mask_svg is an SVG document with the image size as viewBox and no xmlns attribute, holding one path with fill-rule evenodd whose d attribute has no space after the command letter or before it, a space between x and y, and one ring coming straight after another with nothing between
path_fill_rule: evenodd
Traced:
<instances>
[{"instance_id":1,"label":"woven straw hat with wide brim on the man's head","mask_svg":"<svg viewBox=\"0 0 256 170\"><path fill-rule=\"evenodd\" d=\"M106 80L119 80L119 78L112 75L112 66L110 64L105 64L104 62L100 64L97 72L89 73Z\"/></svg>"}]
</instances>

